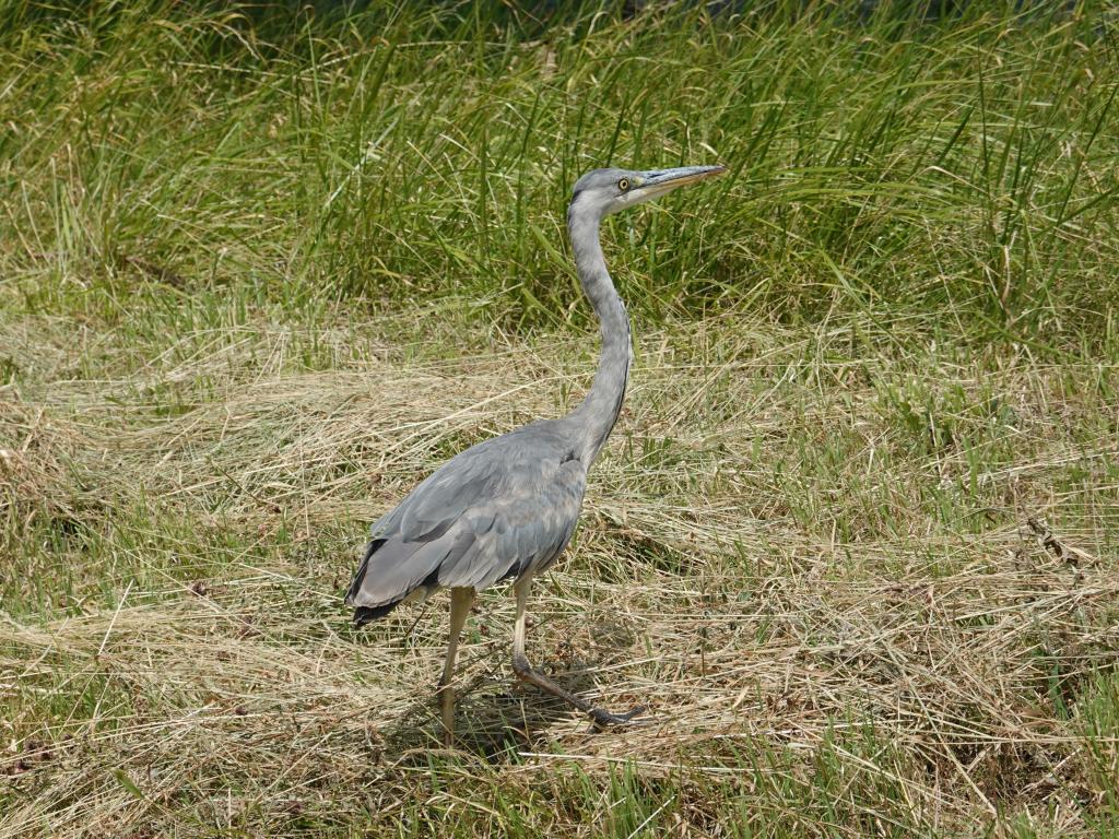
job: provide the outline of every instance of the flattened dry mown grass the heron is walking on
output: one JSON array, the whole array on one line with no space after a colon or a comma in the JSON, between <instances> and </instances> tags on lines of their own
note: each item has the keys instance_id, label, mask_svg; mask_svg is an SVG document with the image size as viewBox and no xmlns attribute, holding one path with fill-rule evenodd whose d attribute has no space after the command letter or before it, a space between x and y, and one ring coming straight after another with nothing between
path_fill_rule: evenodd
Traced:
<instances>
[{"instance_id":1,"label":"flattened dry mown grass the heron is walking on","mask_svg":"<svg viewBox=\"0 0 1119 839\"><path fill-rule=\"evenodd\" d=\"M339 591L363 522L449 452L560 409L584 345L474 334L423 358L337 328L329 369L309 370L308 336L262 326L82 378L67 347L84 342L58 327L9 321L0 347L21 367L34 336L58 377L0 403L17 557L0 836L624 836L650 816L700 836L958 835L996 817L1068 836L1113 804L1119 741L1085 745L1107 696L1093 675L1119 647L1098 368L856 365L827 360L834 336L716 321L642 333L577 541L537 586L530 653L650 711L592 734L515 686L511 600L493 591L448 752L431 704L443 598L354 633ZM955 436L932 445L897 417L890 394L915 381ZM980 389L1013 423L952 413Z\"/></svg>"}]
</instances>

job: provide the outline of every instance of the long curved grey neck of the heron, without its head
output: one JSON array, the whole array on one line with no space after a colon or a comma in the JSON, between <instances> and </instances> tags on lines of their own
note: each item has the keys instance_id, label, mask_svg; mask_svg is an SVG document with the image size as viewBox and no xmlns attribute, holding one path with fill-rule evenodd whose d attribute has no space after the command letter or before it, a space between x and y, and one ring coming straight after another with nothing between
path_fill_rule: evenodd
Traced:
<instances>
[{"instance_id":1,"label":"long curved grey neck of the heron, without its head","mask_svg":"<svg viewBox=\"0 0 1119 839\"><path fill-rule=\"evenodd\" d=\"M598 214L593 210L581 211L579 201L573 201L567 210L567 232L575 254L579 280L594 307L594 313L599 315L602 330L602 352L594 383L583 402L570 415L579 430L575 455L590 468L622 409L632 347L626 305L614 290L610 272L606 271L606 261L602 256Z\"/></svg>"}]
</instances>

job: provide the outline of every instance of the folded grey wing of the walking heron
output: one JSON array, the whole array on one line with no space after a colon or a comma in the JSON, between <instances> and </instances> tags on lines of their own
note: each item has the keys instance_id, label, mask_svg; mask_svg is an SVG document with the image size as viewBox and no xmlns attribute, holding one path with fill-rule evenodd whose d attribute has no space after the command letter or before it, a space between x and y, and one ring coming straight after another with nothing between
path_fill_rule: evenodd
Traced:
<instances>
[{"instance_id":1,"label":"folded grey wing of the walking heron","mask_svg":"<svg viewBox=\"0 0 1119 839\"><path fill-rule=\"evenodd\" d=\"M474 446L374 525L346 602L372 620L417 588L482 590L546 567L575 530L585 486L582 463L551 440Z\"/></svg>"}]
</instances>

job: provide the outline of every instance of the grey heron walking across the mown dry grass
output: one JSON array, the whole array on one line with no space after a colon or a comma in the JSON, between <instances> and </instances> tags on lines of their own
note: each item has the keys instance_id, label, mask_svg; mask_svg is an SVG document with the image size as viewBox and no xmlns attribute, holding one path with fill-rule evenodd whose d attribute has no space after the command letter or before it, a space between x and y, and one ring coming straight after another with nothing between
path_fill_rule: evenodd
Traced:
<instances>
[{"instance_id":1,"label":"grey heron walking across the mown dry grass","mask_svg":"<svg viewBox=\"0 0 1119 839\"><path fill-rule=\"evenodd\" d=\"M451 590L451 631L438 689L449 742L459 635L476 593L509 578L517 596L513 669L520 679L590 714L599 725L626 723L642 710L611 714L595 708L534 670L525 657L525 613L533 577L560 558L575 530L587 470L618 421L629 380L629 317L606 271L600 223L606 215L725 171L722 166L595 169L579 179L567 208L567 232L583 292L602 333L590 392L566 416L538 420L457 454L372 526L346 595L358 626L405 600Z\"/></svg>"}]
</instances>

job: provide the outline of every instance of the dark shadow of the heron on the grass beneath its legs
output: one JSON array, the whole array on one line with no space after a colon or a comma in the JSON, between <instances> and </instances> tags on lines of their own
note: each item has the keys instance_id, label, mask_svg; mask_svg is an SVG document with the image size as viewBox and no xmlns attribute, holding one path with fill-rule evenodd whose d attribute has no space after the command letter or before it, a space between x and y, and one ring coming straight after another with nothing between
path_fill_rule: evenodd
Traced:
<instances>
[{"instance_id":1,"label":"dark shadow of the heron on the grass beneath its legs","mask_svg":"<svg viewBox=\"0 0 1119 839\"><path fill-rule=\"evenodd\" d=\"M613 622L598 622L591 634L609 650L624 650L633 642L630 628ZM591 694L608 709L613 708L599 689L599 668L615 656L576 657L563 642L549 657L534 662L537 671L575 694ZM595 730L586 715L563 700L517 679L511 666L479 672L478 662L464 662L457 682L454 748L489 763L508 763L518 752L530 750L562 720L585 720L585 730ZM466 672L463 672L463 670ZM473 672L471 672L473 671ZM463 679L463 677L466 677ZM396 719L379 732L383 756L394 763L416 762L426 765L432 747L443 746L435 684L422 699L406 706Z\"/></svg>"}]
</instances>

